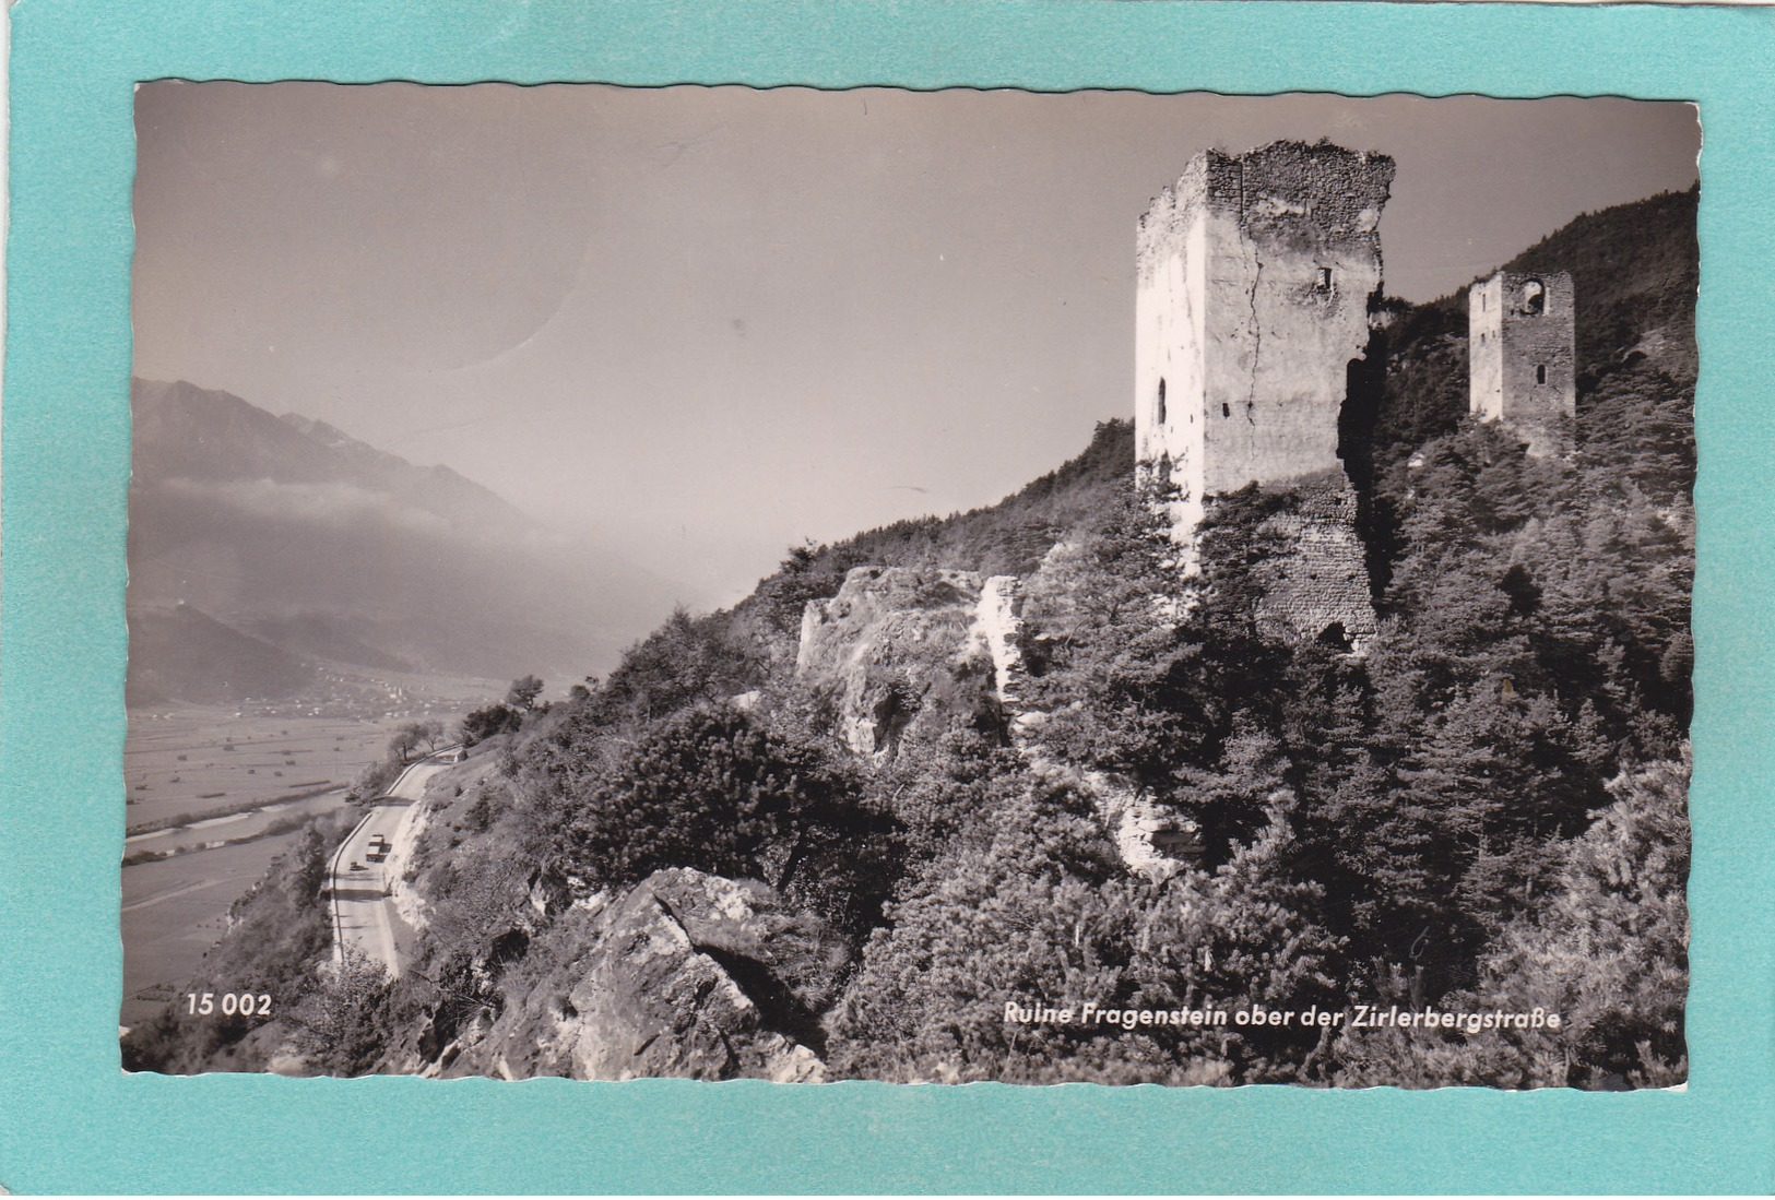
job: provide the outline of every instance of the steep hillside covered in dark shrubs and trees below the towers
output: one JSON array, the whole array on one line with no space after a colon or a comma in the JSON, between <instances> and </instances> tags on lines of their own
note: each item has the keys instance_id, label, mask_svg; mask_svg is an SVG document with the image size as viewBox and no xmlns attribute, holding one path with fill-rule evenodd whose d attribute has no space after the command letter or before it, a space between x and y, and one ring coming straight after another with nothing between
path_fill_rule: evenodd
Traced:
<instances>
[{"instance_id":1,"label":"steep hillside covered in dark shrubs and trees below the towers","mask_svg":"<svg viewBox=\"0 0 1775 1200\"><path fill-rule=\"evenodd\" d=\"M1681 195L1518 261L1578 277L1566 463L1466 419L1464 296L1393 305L1345 430L1361 655L1258 621L1298 497L1219 499L1186 580L1109 422L998 506L792 549L568 699L470 714L401 886L412 969L360 1005L385 1038L325 1056L309 1021L311 1062L1684 1079L1693 250ZM1459 1019L1360 1022L1395 1007ZM1187 1015L1257 1010L1337 1021Z\"/></svg>"}]
</instances>

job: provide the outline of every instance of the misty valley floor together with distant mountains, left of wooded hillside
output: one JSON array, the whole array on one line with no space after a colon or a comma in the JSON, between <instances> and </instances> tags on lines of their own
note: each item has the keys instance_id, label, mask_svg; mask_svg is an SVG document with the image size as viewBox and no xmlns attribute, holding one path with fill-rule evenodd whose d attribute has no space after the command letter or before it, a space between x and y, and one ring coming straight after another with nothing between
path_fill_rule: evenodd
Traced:
<instances>
[{"instance_id":1,"label":"misty valley floor together with distant mountains, left of wooded hillside","mask_svg":"<svg viewBox=\"0 0 1775 1200\"><path fill-rule=\"evenodd\" d=\"M515 673L605 671L673 591L449 467L190 382L135 380L124 1005L201 969L403 722Z\"/></svg>"}]
</instances>

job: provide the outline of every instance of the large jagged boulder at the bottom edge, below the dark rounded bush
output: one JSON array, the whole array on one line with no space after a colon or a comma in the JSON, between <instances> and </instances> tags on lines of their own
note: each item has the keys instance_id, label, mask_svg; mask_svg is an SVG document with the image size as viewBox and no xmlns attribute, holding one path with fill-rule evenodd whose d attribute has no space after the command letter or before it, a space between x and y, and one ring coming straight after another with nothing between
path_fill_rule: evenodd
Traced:
<instances>
[{"instance_id":1,"label":"large jagged boulder at the bottom edge, below the dark rounded bush","mask_svg":"<svg viewBox=\"0 0 1775 1200\"><path fill-rule=\"evenodd\" d=\"M655 872L559 921L557 966L449 1074L816 1083L840 939L765 884ZM532 950L534 953L534 950Z\"/></svg>"}]
</instances>

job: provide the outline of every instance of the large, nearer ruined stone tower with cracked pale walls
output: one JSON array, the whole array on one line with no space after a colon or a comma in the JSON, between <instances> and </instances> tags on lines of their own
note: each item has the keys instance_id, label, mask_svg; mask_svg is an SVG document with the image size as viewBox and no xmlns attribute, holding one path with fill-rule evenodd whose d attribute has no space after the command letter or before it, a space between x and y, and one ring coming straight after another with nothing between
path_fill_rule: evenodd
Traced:
<instances>
[{"instance_id":1,"label":"large, nearer ruined stone tower with cracked pale walls","mask_svg":"<svg viewBox=\"0 0 1775 1200\"><path fill-rule=\"evenodd\" d=\"M1338 458L1349 366L1381 291L1393 160L1321 142L1205 151L1140 220L1134 438L1195 563L1216 495L1299 495L1276 525L1296 547L1258 618L1299 639L1374 632L1356 493Z\"/></svg>"}]
</instances>

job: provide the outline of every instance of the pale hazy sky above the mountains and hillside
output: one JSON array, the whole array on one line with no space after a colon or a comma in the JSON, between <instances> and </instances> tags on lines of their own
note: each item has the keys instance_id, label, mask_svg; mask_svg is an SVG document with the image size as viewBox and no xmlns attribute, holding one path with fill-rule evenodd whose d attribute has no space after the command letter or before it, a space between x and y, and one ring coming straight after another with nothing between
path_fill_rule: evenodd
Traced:
<instances>
[{"instance_id":1,"label":"pale hazy sky above the mountains and hillside","mask_svg":"<svg viewBox=\"0 0 1775 1200\"><path fill-rule=\"evenodd\" d=\"M1129 415L1134 222L1205 146L1392 154L1408 300L1700 147L1622 99L502 83L149 83L137 131L137 375L447 463L701 607Z\"/></svg>"}]
</instances>

